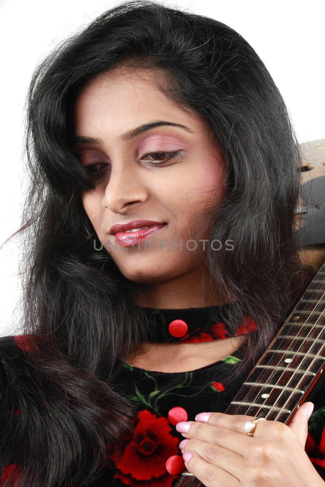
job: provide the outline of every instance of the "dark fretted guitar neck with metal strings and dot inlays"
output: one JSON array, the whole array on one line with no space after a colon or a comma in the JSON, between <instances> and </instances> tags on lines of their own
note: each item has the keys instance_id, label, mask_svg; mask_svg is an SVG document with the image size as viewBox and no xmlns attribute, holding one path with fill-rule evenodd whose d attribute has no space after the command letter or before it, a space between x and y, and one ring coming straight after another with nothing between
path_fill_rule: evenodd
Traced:
<instances>
[{"instance_id":1,"label":"dark fretted guitar neck with metal strings and dot inlays","mask_svg":"<svg viewBox=\"0 0 325 487\"><path fill-rule=\"evenodd\" d=\"M287 424L325 368L325 263L230 402L227 414ZM198 487L185 469L174 487Z\"/></svg>"}]
</instances>

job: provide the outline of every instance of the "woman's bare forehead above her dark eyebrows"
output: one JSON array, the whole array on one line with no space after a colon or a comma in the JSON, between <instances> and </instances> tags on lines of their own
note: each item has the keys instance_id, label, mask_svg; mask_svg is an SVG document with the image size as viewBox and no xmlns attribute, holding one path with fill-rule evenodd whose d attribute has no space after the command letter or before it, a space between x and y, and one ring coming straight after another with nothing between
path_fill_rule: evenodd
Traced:
<instances>
[{"instance_id":1,"label":"woman's bare forehead above her dark eyebrows","mask_svg":"<svg viewBox=\"0 0 325 487\"><path fill-rule=\"evenodd\" d=\"M188 113L161 92L156 74L145 69L121 67L100 73L81 90L75 103L75 130L107 130L118 135L141 123L157 119L191 126L206 133L205 121L194 112Z\"/></svg>"}]
</instances>

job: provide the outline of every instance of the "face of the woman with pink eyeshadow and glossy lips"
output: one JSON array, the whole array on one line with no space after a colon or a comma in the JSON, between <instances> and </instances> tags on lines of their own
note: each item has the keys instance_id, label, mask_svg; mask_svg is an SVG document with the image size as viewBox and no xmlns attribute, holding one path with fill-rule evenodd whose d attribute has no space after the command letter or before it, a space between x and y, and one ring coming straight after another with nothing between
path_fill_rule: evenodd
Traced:
<instances>
[{"instance_id":1,"label":"face of the woman with pink eyeshadow and glossy lips","mask_svg":"<svg viewBox=\"0 0 325 487\"><path fill-rule=\"evenodd\" d=\"M191 219L224 196L223 157L207 124L173 104L148 76L148 71L123 67L96 76L78 95L75 147L96 185L82 194L82 202L122 274L153 284L143 305L156 301L156 292L171 299L176 293L185 303L182 296L189 288L199 296L202 277L195 250L186 247ZM119 232L116 237L110 232L113 225L136 220L164 225L142 234L142 240L139 233L126 233L128 244ZM147 226L141 223L135 228Z\"/></svg>"}]
</instances>

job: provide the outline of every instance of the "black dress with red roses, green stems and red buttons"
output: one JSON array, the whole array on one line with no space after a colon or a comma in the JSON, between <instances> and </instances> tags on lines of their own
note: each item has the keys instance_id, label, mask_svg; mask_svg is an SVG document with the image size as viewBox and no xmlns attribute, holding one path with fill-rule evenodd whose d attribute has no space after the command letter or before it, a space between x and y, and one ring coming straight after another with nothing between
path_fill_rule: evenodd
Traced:
<instances>
[{"instance_id":1,"label":"black dress with red roses, green stems and red buttons","mask_svg":"<svg viewBox=\"0 0 325 487\"><path fill-rule=\"evenodd\" d=\"M229 337L227 323L209 321L212 307L188 309L152 309L156 320L157 342L200 342ZM214 310L219 307L214 306ZM250 333L256 325L246 317L234 336ZM21 335L0 338L1 360L28 353L28 340ZM242 348L210 365L186 372L157 372L123 362L118 390L131 398L137 415L134 417L134 438L115 459L115 468L104 466L94 487L172 487L185 465L178 448L184 437L176 431L179 421L194 421L199 412L225 412L247 374L238 375L226 387L222 377L242 360ZM21 358L22 359L22 358ZM1 369L2 370L2 369ZM325 480L325 377L316 383L306 397L314 403L308 421L306 454ZM19 414L19 410L13 415ZM2 466L2 480L17 468ZM1 483L0 483L1 485ZM77 487L77 486L75 486Z\"/></svg>"}]
</instances>

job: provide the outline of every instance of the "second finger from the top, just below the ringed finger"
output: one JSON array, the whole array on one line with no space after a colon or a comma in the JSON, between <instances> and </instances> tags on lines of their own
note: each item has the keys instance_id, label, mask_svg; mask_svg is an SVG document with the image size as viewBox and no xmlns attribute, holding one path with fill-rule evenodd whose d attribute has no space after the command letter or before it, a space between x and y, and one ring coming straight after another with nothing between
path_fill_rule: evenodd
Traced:
<instances>
[{"instance_id":1,"label":"second finger from the top, just below the ringed finger","mask_svg":"<svg viewBox=\"0 0 325 487\"><path fill-rule=\"evenodd\" d=\"M190 428L186 433L182 433L185 438L195 438L197 440L206 441L212 445L220 445L227 450L231 450L243 457L247 457L249 449L253 444L253 438L246 434L231 431L228 428L220 426L212 426L199 421L180 422L176 425L176 430L183 430L182 425L188 425Z\"/></svg>"}]
</instances>

